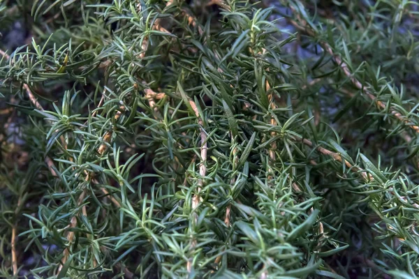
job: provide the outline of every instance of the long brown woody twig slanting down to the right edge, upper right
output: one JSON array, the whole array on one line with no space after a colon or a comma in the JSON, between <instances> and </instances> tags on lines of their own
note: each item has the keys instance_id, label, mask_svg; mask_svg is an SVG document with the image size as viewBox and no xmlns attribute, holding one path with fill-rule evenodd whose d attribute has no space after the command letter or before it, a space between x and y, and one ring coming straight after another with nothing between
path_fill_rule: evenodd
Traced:
<instances>
[{"instance_id":1,"label":"long brown woody twig slanting down to the right edge, upper right","mask_svg":"<svg viewBox=\"0 0 419 279\"><path fill-rule=\"evenodd\" d=\"M288 20L288 21L291 22L291 24L293 24L293 26L297 28L298 30L303 31L304 33L307 33L307 35L315 38L316 32L309 27L309 24L307 23L307 21L301 17L300 12L297 11L293 6L290 6L290 9L293 11L293 13L295 14L295 17L297 18L299 22L301 22L302 25L295 22L295 20ZM319 44L321 45L321 47L323 47L323 50L328 52L333 57L337 65L344 71L344 74L346 75L346 77L348 77L348 79L351 80L352 84L357 89L360 89L363 93L365 93L371 100L373 100L376 103L376 105L378 105L378 107L385 109L386 107L385 103L383 103L381 100L377 100L374 94L372 93L372 91L369 91L369 89L367 89L367 87L364 86L355 77L355 75L353 75L353 73L351 73L351 70L349 70L348 65L341 59L341 57L338 54L335 54L335 52L332 50L332 47L330 47L328 43L326 43L324 40L321 40ZM407 126L412 128L416 133L419 133L419 126L411 124L409 119L405 119L404 116L402 116L402 114L400 114L399 112L396 112L395 110L390 110L390 112L397 119L399 119L399 121L402 121L402 123L405 123Z\"/></svg>"}]
</instances>

